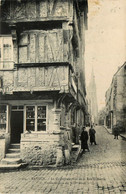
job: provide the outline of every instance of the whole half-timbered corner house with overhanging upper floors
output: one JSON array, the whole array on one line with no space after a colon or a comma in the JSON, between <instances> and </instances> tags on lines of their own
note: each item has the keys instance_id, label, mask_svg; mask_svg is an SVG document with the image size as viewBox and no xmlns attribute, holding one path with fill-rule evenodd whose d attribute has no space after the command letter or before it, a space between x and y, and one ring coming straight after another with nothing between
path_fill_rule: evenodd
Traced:
<instances>
[{"instance_id":1,"label":"whole half-timbered corner house with overhanging upper floors","mask_svg":"<svg viewBox=\"0 0 126 194\"><path fill-rule=\"evenodd\" d=\"M0 9L0 160L19 143L28 164L64 164L87 114L87 0L4 0Z\"/></svg>"}]
</instances>

